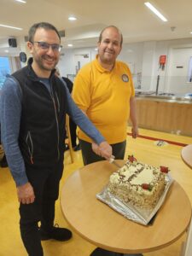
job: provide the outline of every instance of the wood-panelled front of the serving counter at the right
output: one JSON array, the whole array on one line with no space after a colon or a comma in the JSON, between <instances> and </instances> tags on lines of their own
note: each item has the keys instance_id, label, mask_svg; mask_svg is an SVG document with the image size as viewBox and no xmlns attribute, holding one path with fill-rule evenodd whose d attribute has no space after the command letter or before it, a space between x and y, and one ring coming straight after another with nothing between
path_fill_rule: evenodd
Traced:
<instances>
[{"instance_id":1,"label":"wood-panelled front of the serving counter at the right","mask_svg":"<svg viewBox=\"0 0 192 256\"><path fill-rule=\"evenodd\" d=\"M192 136L192 98L136 95L141 128Z\"/></svg>"}]
</instances>

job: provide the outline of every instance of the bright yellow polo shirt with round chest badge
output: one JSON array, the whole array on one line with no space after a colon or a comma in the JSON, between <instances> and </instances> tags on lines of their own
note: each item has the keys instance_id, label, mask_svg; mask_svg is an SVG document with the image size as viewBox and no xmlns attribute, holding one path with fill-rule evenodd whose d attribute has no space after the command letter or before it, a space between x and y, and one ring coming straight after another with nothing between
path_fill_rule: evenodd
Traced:
<instances>
[{"instance_id":1,"label":"bright yellow polo shirt with round chest badge","mask_svg":"<svg viewBox=\"0 0 192 256\"><path fill-rule=\"evenodd\" d=\"M122 61L115 61L110 72L97 59L91 61L79 70L73 84L74 102L110 144L126 139L131 96L135 96L131 72ZM91 143L80 130L79 138Z\"/></svg>"}]
</instances>

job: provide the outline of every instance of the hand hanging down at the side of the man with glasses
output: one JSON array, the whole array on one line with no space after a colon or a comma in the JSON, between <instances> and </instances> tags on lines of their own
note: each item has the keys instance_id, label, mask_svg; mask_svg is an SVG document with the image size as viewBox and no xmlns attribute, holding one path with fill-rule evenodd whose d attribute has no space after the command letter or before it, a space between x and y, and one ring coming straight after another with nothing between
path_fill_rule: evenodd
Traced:
<instances>
[{"instance_id":1,"label":"hand hanging down at the side of the man with glasses","mask_svg":"<svg viewBox=\"0 0 192 256\"><path fill-rule=\"evenodd\" d=\"M17 187L18 201L21 204L31 204L35 201L34 191L32 189L31 183L26 183L24 185Z\"/></svg>"}]
</instances>

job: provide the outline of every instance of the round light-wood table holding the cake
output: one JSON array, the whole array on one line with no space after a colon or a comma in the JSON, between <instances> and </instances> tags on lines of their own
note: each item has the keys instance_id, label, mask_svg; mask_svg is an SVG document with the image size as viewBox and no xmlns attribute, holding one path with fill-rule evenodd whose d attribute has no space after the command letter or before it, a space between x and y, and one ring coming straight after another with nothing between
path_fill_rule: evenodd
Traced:
<instances>
[{"instance_id":1,"label":"round light-wood table holding the cake","mask_svg":"<svg viewBox=\"0 0 192 256\"><path fill-rule=\"evenodd\" d=\"M125 163L117 160L119 165ZM170 245L187 230L191 205L182 187L173 182L153 225L124 218L96 199L117 167L101 161L73 172L61 190L61 209L80 236L109 251L145 253Z\"/></svg>"}]
</instances>

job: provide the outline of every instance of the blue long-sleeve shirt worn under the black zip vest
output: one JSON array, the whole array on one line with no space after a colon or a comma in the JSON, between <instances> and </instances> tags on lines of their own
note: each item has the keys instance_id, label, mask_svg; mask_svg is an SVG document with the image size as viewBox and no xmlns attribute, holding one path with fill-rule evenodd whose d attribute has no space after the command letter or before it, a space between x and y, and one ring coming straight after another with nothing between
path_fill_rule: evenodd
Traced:
<instances>
[{"instance_id":1,"label":"blue long-sleeve shirt worn under the black zip vest","mask_svg":"<svg viewBox=\"0 0 192 256\"><path fill-rule=\"evenodd\" d=\"M40 80L49 90L49 79ZM63 83L63 86L66 86L66 84ZM101 133L96 130L96 127L92 125L85 114L75 105L69 91L66 91L67 99L63 100L67 100L67 114L93 141L97 144L102 143L104 138ZM3 84L3 89L0 91L1 141L8 160L10 172L12 173L17 186L28 182L25 163L22 154L20 153L18 143L21 102L22 91L20 90L19 84L13 77L7 78Z\"/></svg>"}]
</instances>

